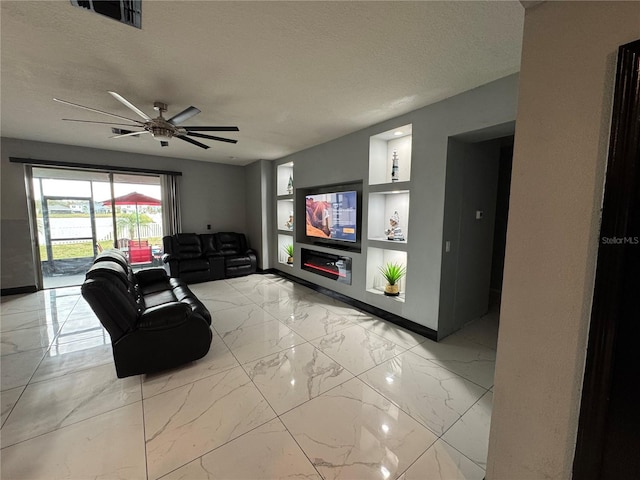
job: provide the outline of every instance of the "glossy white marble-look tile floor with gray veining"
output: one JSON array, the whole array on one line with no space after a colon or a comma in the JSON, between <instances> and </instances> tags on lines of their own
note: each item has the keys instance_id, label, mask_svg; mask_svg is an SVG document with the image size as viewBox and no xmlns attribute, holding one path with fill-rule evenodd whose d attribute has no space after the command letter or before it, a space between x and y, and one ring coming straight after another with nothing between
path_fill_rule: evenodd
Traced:
<instances>
[{"instance_id":1,"label":"glossy white marble-look tile floor with gray veining","mask_svg":"<svg viewBox=\"0 0 640 480\"><path fill-rule=\"evenodd\" d=\"M192 285L209 354L117 379L79 287L2 298L3 479L482 479L497 315L440 343L273 275Z\"/></svg>"}]
</instances>

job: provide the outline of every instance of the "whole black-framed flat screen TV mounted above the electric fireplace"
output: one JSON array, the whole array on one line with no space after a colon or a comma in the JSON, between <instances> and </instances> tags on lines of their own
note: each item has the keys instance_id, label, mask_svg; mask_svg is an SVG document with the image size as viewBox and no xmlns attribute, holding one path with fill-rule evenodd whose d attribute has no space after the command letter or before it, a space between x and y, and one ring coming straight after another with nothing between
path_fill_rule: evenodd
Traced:
<instances>
[{"instance_id":1,"label":"whole black-framed flat screen TV mounted above the electric fireplace","mask_svg":"<svg viewBox=\"0 0 640 480\"><path fill-rule=\"evenodd\" d=\"M362 183L299 190L298 241L342 250L360 251ZM301 205L302 204L302 205ZM299 228L299 227L298 227Z\"/></svg>"}]
</instances>

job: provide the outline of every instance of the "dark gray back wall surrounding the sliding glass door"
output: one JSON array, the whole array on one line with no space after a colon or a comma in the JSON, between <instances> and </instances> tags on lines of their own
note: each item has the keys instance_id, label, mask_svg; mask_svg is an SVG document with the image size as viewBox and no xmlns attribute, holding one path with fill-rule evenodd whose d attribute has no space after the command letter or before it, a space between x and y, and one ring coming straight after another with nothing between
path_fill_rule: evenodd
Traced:
<instances>
[{"instance_id":1,"label":"dark gray back wall surrounding the sliding glass door","mask_svg":"<svg viewBox=\"0 0 640 480\"><path fill-rule=\"evenodd\" d=\"M24 167L9 157L181 171L182 230L245 231L244 167L2 138L0 228L3 289L35 285Z\"/></svg>"}]
</instances>

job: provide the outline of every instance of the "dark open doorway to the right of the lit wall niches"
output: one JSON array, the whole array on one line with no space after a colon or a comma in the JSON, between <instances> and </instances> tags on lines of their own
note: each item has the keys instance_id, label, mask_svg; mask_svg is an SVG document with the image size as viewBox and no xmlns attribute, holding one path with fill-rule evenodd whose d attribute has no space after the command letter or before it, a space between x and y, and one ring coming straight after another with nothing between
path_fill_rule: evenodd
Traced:
<instances>
[{"instance_id":1,"label":"dark open doorway to the right of the lit wall niches","mask_svg":"<svg viewBox=\"0 0 640 480\"><path fill-rule=\"evenodd\" d=\"M497 338L513 135L495 134L449 139L438 339L487 313Z\"/></svg>"}]
</instances>

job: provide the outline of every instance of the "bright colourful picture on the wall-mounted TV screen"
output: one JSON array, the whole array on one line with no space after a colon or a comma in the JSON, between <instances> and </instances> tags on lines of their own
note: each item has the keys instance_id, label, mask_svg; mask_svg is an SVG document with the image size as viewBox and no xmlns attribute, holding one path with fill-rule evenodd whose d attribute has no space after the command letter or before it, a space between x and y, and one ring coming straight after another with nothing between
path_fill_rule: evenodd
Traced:
<instances>
[{"instance_id":1,"label":"bright colourful picture on the wall-mounted TV screen","mask_svg":"<svg viewBox=\"0 0 640 480\"><path fill-rule=\"evenodd\" d=\"M357 192L306 195L306 232L309 237L357 241Z\"/></svg>"}]
</instances>

